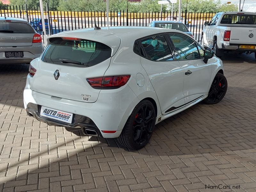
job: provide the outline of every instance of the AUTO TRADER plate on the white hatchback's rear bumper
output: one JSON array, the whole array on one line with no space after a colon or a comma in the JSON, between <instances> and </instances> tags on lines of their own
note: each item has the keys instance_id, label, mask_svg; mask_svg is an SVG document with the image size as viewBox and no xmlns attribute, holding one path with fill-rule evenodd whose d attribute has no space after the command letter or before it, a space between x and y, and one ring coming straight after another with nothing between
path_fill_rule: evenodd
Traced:
<instances>
[{"instance_id":1,"label":"AUTO TRADER plate on the white hatchback's rear bumper","mask_svg":"<svg viewBox=\"0 0 256 192\"><path fill-rule=\"evenodd\" d=\"M72 113L67 113L64 111L60 111L57 109L52 109L44 106L41 107L40 115L43 117L48 117L50 119L62 121L65 123L72 123L72 117L73 117Z\"/></svg>"}]
</instances>

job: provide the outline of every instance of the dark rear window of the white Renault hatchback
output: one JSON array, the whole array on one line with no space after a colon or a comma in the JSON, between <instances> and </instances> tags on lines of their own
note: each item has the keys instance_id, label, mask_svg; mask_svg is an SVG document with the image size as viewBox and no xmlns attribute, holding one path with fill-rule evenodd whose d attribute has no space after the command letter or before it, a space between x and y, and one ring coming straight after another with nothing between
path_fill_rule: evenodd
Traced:
<instances>
[{"instance_id":1,"label":"dark rear window of the white Renault hatchback","mask_svg":"<svg viewBox=\"0 0 256 192\"><path fill-rule=\"evenodd\" d=\"M47 63L91 67L111 57L111 48L105 44L86 39L50 39L42 60Z\"/></svg>"}]
</instances>

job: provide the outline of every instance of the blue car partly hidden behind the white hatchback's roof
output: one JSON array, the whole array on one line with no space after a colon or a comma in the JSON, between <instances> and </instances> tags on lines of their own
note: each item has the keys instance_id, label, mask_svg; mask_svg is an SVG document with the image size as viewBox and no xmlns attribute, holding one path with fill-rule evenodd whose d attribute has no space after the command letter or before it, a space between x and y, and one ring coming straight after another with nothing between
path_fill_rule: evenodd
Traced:
<instances>
[{"instance_id":1,"label":"blue car partly hidden behind the white hatchback's roof","mask_svg":"<svg viewBox=\"0 0 256 192\"><path fill-rule=\"evenodd\" d=\"M183 31L184 33L187 33L188 35L194 38L193 34L188 30L187 26L180 21L151 21L151 23L149 23L147 27L176 29L179 31Z\"/></svg>"}]
</instances>

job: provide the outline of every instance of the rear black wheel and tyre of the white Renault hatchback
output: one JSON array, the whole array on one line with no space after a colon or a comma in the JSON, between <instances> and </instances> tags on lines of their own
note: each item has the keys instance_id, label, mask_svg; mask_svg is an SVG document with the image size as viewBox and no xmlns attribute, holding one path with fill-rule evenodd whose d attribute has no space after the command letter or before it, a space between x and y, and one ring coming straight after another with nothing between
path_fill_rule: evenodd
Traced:
<instances>
[{"instance_id":1,"label":"rear black wheel and tyre of the white Renault hatchback","mask_svg":"<svg viewBox=\"0 0 256 192\"><path fill-rule=\"evenodd\" d=\"M144 110L146 113L142 113ZM155 123L156 112L153 104L149 100L142 100L133 109L117 141L126 148L140 149L150 140Z\"/></svg>"}]
</instances>

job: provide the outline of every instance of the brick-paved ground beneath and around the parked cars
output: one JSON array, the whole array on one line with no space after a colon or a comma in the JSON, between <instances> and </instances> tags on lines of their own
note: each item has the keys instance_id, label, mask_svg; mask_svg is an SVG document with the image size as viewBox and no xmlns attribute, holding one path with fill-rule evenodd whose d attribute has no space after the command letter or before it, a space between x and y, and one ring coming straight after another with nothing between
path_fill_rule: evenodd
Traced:
<instances>
[{"instance_id":1,"label":"brick-paved ground beneath and around the parked cars","mask_svg":"<svg viewBox=\"0 0 256 192\"><path fill-rule=\"evenodd\" d=\"M138 151L28 117L28 66L1 65L0 191L256 191L256 62L245 54L223 61L225 98L158 124Z\"/></svg>"}]
</instances>

